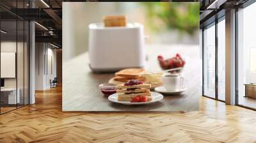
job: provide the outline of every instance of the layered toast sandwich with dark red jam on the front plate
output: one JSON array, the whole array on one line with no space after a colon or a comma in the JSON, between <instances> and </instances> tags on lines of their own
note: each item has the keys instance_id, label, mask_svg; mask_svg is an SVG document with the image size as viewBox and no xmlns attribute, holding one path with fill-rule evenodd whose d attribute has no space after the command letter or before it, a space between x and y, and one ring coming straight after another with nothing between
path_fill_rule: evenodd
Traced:
<instances>
[{"instance_id":1,"label":"layered toast sandwich with dark red jam on the front plate","mask_svg":"<svg viewBox=\"0 0 256 143\"><path fill-rule=\"evenodd\" d=\"M152 96L150 93L150 84L143 84L138 80L130 80L125 84L118 84L116 86L116 93L118 101L131 102L134 97L146 97L145 102L150 102Z\"/></svg>"}]
</instances>

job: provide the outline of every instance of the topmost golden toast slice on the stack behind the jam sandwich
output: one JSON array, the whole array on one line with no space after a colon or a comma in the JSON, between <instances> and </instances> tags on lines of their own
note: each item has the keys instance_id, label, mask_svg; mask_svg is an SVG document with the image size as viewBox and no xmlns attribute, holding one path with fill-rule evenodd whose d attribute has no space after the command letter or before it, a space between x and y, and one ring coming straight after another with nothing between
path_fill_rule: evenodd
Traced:
<instances>
[{"instance_id":1,"label":"topmost golden toast slice on the stack behind the jam sandwich","mask_svg":"<svg viewBox=\"0 0 256 143\"><path fill-rule=\"evenodd\" d=\"M145 72L143 68L126 68L116 72L116 77L125 77L127 79L138 79Z\"/></svg>"}]
</instances>

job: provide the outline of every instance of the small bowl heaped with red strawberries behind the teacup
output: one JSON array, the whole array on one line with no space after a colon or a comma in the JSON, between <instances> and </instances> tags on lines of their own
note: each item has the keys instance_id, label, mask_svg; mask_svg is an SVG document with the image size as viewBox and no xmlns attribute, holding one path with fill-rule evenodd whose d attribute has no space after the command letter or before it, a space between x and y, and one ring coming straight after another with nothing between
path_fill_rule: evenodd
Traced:
<instances>
[{"instance_id":1,"label":"small bowl heaped with red strawberries behind the teacup","mask_svg":"<svg viewBox=\"0 0 256 143\"><path fill-rule=\"evenodd\" d=\"M169 59L164 59L163 56L157 56L159 64L162 70L172 70L171 73L179 73L182 71L184 65L186 64L184 58L180 56L179 53L175 55L175 57L171 57ZM177 70L175 70L177 69Z\"/></svg>"}]
</instances>

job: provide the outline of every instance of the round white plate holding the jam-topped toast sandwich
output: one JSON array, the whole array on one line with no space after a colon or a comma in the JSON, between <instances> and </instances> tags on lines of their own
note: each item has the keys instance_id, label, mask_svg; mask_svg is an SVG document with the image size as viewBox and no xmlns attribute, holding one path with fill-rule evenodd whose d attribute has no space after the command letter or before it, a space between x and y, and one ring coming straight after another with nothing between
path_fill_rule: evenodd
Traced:
<instances>
[{"instance_id":1,"label":"round white plate holding the jam-topped toast sandwich","mask_svg":"<svg viewBox=\"0 0 256 143\"><path fill-rule=\"evenodd\" d=\"M108 96L108 100L115 103L121 103L124 105L146 105L154 102L158 102L164 98L164 96L160 93L151 92L152 101L150 102L122 102L117 100L117 93L111 94Z\"/></svg>"}]
</instances>

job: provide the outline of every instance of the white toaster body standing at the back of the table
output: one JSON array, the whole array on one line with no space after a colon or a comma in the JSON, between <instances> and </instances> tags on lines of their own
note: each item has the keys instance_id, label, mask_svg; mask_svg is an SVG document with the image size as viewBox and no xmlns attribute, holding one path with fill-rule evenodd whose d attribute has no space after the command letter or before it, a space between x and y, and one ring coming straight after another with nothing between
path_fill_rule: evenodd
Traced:
<instances>
[{"instance_id":1,"label":"white toaster body standing at the back of the table","mask_svg":"<svg viewBox=\"0 0 256 143\"><path fill-rule=\"evenodd\" d=\"M125 27L89 25L89 65L93 72L116 72L145 66L143 25Z\"/></svg>"}]
</instances>

